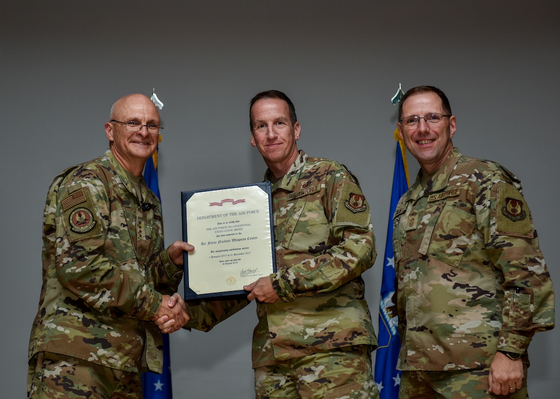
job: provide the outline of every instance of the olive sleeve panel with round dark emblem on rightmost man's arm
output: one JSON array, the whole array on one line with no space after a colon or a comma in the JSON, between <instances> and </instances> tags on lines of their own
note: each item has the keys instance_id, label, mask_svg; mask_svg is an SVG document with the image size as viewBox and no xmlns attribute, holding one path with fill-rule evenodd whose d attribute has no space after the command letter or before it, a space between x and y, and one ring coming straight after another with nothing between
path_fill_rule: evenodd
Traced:
<instances>
[{"instance_id":1,"label":"olive sleeve panel with round dark emblem on rightmost man's arm","mask_svg":"<svg viewBox=\"0 0 560 399\"><path fill-rule=\"evenodd\" d=\"M498 184L496 230L498 233L533 234L529 206L511 184Z\"/></svg>"}]
</instances>

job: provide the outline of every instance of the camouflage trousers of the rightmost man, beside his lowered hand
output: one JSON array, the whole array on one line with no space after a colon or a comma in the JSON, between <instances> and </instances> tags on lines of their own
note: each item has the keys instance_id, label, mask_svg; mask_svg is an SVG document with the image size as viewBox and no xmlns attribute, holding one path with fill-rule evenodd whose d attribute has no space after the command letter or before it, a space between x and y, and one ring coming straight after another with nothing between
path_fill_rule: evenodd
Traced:
<instances>
[{"instance_id":1,"label":"camouflage trousers of the rightmost man, beside his lowered hand","mask_svg":"<svg viewBox=\"0 0 560 399\"><path fill-rule=\"evenodd\" d=\"M527 365L523 385L510 395L489 393L489 368L460 371L403 371L399 399L529 399Z\"/></svg>"}]
</instances>

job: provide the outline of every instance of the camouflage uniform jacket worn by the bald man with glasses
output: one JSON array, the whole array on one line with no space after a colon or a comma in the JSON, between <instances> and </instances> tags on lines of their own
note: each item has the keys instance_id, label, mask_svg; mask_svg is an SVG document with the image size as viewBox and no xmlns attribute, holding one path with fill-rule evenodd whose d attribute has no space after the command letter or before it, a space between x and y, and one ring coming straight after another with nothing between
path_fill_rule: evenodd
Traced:
<instances>
[{"instance_id":1,"label":"camouflage uniform jacket worn by the bald man with glasses","mask_svg":"<svg viewBox=\"0 0 560 399\"><path fill-rule=\"evenodd\" d=\"M157 197L110 150L54 179L43 217L43 288L29 359L69 355L127 372L162 370L151 321L183 277L162 250ZM143 211L141 200L152 204Z\"/></svg>"}]
</instances>

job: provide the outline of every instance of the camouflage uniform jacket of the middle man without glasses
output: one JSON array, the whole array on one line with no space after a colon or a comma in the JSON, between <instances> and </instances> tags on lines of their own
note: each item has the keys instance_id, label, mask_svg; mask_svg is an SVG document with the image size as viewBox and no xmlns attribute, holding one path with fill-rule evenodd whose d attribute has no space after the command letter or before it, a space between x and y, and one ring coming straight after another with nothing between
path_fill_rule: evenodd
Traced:
<instances>
[{"instance_id":1,"label":"camouflage uniform jacket of the middle man without glasses","mask_svg":"<svg viewBox=\"0 0 560 399\"><path fill-rule=\"evenodd\" d=\"M265 179L270 179L267 172ZM281 298L257 303L253 367L377 339L361 274L375 260L370 210L353 175L304 151L272 181L277 273Z\"/></svg>"}]
</instances>

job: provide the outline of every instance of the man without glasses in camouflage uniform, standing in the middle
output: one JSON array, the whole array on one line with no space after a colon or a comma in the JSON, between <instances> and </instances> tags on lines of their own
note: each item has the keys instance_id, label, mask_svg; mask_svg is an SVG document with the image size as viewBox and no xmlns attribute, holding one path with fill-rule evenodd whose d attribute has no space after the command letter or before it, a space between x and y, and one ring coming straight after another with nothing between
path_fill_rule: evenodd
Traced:
<instances>
[{"instance_id":1,"label":"man without glasses in camouflage uniform, standing in the middle","mask_svg":"<svg viewBox=\"0 0 560 399\"><path fill-rule=\"evenodd\" d=\"M298 151L286 94L257 94L251 145L272 183L277 273L246 286L257 300L255 392L272 398L375 398L377 339L361 274L375 260L370 210L343 165Z\"/></svg>"}]
</instances>

